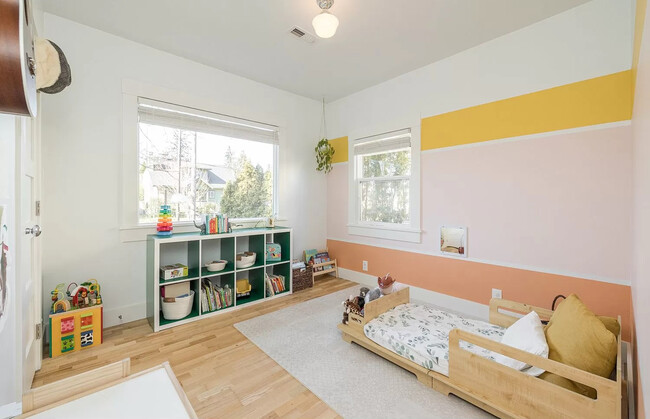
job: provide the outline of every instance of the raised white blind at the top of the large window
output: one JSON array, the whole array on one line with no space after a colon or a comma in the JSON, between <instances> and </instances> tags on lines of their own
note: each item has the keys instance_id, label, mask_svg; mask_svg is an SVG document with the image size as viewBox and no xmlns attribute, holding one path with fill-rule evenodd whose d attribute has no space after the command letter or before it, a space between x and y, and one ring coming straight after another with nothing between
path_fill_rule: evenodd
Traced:
<instances>
[{"instance_id":1,"label":"raised white blind at the top of the large window","mask_svg":"<svg viewBox=\"0 0 650 419\"><path fill-rule=\"evenodd\" d=\"M152 99L138 99L138 120L144 124L279 144L278 127L275 125L172 105Z\"/></svg>"}]
</instances>

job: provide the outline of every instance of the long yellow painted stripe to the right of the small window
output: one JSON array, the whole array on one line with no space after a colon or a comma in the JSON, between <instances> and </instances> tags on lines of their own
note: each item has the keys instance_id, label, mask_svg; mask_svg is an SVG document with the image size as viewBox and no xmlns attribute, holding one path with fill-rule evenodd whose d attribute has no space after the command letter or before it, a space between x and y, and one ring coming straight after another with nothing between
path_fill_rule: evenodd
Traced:
<instances>
[{"instance_id":1,"label":"long yellow painted stripe to the right of the small window","mask_svg":"<svg viewBox=\"0 0 650 419\"><path fill-rule=\"evenodd\" d=\"M422 150L585 127L632 117L632 71L422 119Z\"/></svg>"}]
</instances>

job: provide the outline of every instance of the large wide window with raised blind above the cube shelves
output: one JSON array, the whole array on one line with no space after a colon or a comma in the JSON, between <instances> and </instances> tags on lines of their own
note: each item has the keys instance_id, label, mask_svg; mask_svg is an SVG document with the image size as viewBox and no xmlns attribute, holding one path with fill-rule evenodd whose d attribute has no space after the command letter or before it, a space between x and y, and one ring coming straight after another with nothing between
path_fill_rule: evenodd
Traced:
<instances>
[{"instance_id":1,"label":"large wide window with raised blind above the cube shelves","mask_svg":"<svg viewBox=\"0 0 650 419\"><path fill-rule=\"evenodd\" d=\"M140 99L138 128L140 224L156 222L162 204L177 222L276 212L277 127Z\"/></svg>"}]
</instances>

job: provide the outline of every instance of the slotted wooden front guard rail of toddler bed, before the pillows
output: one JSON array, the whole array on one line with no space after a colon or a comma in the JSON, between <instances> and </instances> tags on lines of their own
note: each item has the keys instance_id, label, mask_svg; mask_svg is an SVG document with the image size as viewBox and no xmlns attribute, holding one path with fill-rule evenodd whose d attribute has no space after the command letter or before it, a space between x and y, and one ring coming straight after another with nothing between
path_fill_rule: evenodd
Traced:
<instances>
[{"instance_id":1,"label":"slotted wooden front guard rail of toddler bed, before the pillows","mask_svg":"<svg viewBox=\"0 0 650 419\"><path fill-rule=\"evenodd\" d=\"M461 348L460 341L594 388L597 398L591 399L473 354ZM617 364L620 357L619 338ZM620 419L621 379L619 371L617 380L610 380L459 329L449 334L449 380L454 386L479 400L490 400L501 411L517 412L521 417Z\"/></svg>"}]
</instances>

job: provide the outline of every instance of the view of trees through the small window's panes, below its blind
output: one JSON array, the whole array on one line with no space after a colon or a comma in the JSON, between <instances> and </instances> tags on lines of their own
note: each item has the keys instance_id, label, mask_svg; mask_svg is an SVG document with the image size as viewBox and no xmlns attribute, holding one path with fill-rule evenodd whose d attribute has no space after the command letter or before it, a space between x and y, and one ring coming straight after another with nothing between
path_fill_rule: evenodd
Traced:
<instances>
[{"instance_id":1,"label":"view of trees through the small window's panes, below its blind","mask_svg":"<svg viewBox=\"0 0 650 419\"><path fill-rule=\"evenodd\" d=\"M408 224L410 150L361 155L358 159L360 220Z\"/></svg>"}]
</instances>

